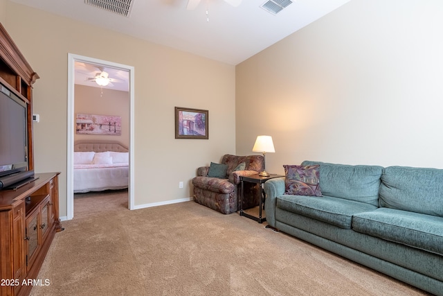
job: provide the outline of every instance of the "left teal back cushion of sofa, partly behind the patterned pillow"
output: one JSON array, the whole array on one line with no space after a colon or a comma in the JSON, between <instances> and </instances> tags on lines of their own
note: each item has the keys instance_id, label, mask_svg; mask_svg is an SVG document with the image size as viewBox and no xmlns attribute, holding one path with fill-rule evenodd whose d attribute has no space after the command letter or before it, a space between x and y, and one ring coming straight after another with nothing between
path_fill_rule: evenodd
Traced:
<instances>
[{"instance_id":1,"label":"left teal back cushion of sofa, partly behind the patterned pillow","mask_svg":"<svg viewBox=\"0 0 443 296\"><path fill-rule=\"evenodd\" d=\"M350 166L325 162L302 162L302 166L320 165L320 191L323 195L379 205L382 166Z\"/></svg>"}]
</instances>

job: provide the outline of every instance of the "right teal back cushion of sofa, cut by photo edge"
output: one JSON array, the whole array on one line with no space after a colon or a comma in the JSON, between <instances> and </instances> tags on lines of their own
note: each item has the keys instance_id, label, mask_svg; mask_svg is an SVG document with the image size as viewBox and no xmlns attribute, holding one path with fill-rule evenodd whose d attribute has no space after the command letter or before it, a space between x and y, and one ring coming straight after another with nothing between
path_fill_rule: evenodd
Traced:
<instances>
[{"instance_id":1,"label":"right teal back cushion of sofa, cut by photo edge","mask_svg":"<svg viewBox=\"0 0 443 296\"><path fill-rule=\"evenodd\" d=\"M443 170L385 168L381 175L380 207L443 217Z\"/></svg>"}]
</instances>

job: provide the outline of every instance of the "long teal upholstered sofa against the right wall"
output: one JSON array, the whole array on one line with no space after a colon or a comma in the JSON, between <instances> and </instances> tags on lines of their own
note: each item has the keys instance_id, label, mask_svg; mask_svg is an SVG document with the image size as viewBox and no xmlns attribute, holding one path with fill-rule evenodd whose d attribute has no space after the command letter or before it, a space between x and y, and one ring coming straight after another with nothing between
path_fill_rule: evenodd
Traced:
<instances>
[{"instance_id":1,"label":"long teal upholstered sofa against the right wall","mask_svg":"<svg viewBox=\"0 0 443 296\"><path fill-rule=\"evenodd\" d=\"M443 170L319 164L323 196L264 183L269 226L443 295Z\"/></svg>"}]
</instances>

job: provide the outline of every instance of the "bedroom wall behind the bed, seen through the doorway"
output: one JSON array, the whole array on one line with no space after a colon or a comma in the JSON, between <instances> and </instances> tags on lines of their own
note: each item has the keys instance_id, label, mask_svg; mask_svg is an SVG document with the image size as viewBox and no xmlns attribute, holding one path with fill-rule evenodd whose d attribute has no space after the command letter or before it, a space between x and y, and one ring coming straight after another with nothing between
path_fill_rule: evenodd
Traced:
<instances>
[{"instance_id":1,"label":"bedroom wall behind the bed, seen through the doorway","mask_svg":"<svg viewBox=\"0 0 443 296\"><path fill-rule=\"evenodd\" d=\"M75 85L74 89L75 116L81 114L120 116L122 133L119 136L107 134L74 134L75 141L118 141L129 147L129 92L113 89L100 89Z\"/></svg>"}]
</instances>

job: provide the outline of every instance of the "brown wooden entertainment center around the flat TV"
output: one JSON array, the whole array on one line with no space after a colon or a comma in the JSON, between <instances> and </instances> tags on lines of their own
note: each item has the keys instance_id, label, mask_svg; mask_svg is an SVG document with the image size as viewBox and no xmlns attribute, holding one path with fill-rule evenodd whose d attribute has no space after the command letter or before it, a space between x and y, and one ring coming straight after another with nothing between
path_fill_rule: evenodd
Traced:
<instances>
[{"instance_id":1,"label":"brown wooden entertainment center around the flat TV","mask_svg":"<svg viewBox=\"0 0 443 296\"><path fill-rule=\"evenodd\" d=\"M33 71L0 24L0 82L28 105L28 170L34 169ZM59 173L38 173L17 189L0 190L0 295L28 295L55 232L62 230L58 203ZM48 283L49 280L49 283Z\"/></svg>"}]
</instances>

